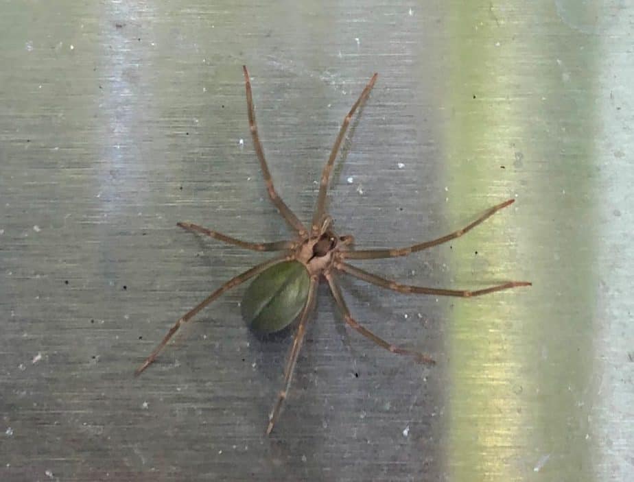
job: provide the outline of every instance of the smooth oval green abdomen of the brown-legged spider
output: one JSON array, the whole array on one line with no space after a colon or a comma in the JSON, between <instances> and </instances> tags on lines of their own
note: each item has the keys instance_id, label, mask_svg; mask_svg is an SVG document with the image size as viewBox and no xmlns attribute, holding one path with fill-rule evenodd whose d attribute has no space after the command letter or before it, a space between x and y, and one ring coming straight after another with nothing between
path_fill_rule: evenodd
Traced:
<instances>
[{"instance_id":1,"label":"smooth oval green abdomen of the brown-legged spider","mask_svg":"<svg viewBox=\"0 0 634 482\"><path fill-rule=\"evenodd\" d=\"M308 298L310 276L299 261L283 261L265 269L242 298L242 317L258 333L275 333L290 325Z\"/></svg>"}]
</instances>

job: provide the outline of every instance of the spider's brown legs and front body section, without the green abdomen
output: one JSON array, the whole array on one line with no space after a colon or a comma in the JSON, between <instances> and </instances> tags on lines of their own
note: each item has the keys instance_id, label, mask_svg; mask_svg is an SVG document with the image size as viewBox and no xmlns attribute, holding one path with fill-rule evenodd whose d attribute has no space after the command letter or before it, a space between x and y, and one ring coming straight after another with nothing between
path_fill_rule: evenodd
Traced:
<instances>
[{"instance_id":1,"label":"spider's brown legs and front body section, without the green abdomen","mask_svg":"<svg viewBox=\"0 0 634 482\"><path fill-rule=\"evenodd\" d=\"M417 293L436 296L457 296L461 298L481 296L493 293L495 291L502 291L503 289L530 286L531 283L527 281L509 281L502 283L501 285L495 285L474 291L427 288L411 285L401 285L400 283L381 278L381 276L366 272L363 269L354 267L346 263L347 260L353 259L394 258L397 256L407 256L408 254L425 250L427 248L431 248L432 246L436 246L442 243L446 243L451 239L456 239L462 236L462 234L469 232L471 229L475 228L475 226L478 226L478 224L482 223L482 221L488 219L494 213L497 213L497 211L499 211L500 209L506 208L506 206L510 206L510 204L513 204L514 200L510 199L487 209L480 217L478 217L478 219L475 219L475 221L471 222L471 224L468 224L464 228L458 229L438 239L414 244L411 246L407 246L406 248L392 248L384 250L354 250L351 247L351 245L353 244L353 237L351 235L338 236L333 230L332 218L325 213L326 193L329 184L330 173L332 171L335 159L339 152L339 147L346 134L352 116L354 115L357 108L361 104L363 104L364 101L366 101L368 95L370 95L370 91L372 90L377 80L377 74L375 73L363 89L361 95L354 103L346 117L344 117L343 123L339 130L339 134L331 149L330 156L321 175L319 183L319 194L312 217L312 223L310 224L310 229L308 230L298 219L298 217L296 217L292 210L290 210L290 208L285 204L285 202L283 202L281 197L279 197L277 191L275 191L275 187L273 186L273 181L268 170L268 166L266 164L266 159L264 158L262 145L257 133L257 123L255 122L255 112L253 109L253 97L251 95L249 74L245 66L243 66L242 69L244 71L244 83L246 86L246 104L248 110L250 132L253 138L255 154L257 155L257 158L260 162L260 168L262 171L264 182L266 184L266 190L268 191L268 196L270 197L271 202L274 204L277 210L279 210L279 213L285 219L287 224L292 228L292 230L294 230L295 237L294 239L289 241L275 241L273 243L250 243L248 241L242 241L230 236L226 236L226 234L221 234L220 232L212 231L207 228L202 228L202 226L198 226L196 224L191 224L187 222L178 223L178 226L185 230L198 232L200 234L212 237L213 239L218 239L218 241L233 244L246 250L281 251L283 252L283 254L282 256L277 256L270 259L269 261L265 261L264 263L247 269L246 272L235 276L235 278L232 278L231 280L228 280L226 283L224 283L224 285L213 291L211 295L202 300L202 302L194 306L193 309L185 313L183 317L180 317L176 324L174 324L174 326L169 329L167 335L165 335L165 337L163 338L163 341L161 341L161 343L158 344L158 346L154 349L150 356L145 359L145 361L137 369L135 374L141 374L141 372L143 372L143 370L145 370L145 368L147 368L154 361L154 359L156 359L158 353L163 350L169 339L172 338L181 324L191 320L191 318L196 315L196 313L198 313L205 306L213 302L213 300L222 295L222 293L224 293L228 289L242 284L250 278L263 274L263 272L266 272L267 269L273 267L274 265L277 265L278 263L283 263L285 261L295 261L301 263L303 267L305 267L309 276L309 287L307 289L307 293L305 293L305 304L303 304L301 315L299 315L298 326L285 365L283 388L279 392L277 401L275 402L272 412L270 413L268 426L266 428L266 433L270 433L275 422L277 422L281 407L287 396L288 390L290 389L295 363L303 344L309 316L311 315L315 306L316 287L320 278L325 278L327 280L331 294L342 312L344 321L351 328L353 328L353 330L356 330L361 335L370 339L381 348L384 348L392 353L408 355L420 363L429 364L434 364L435 362L426 354L407 350L406 348L401 348L399 346L393 345L359 324L357 320L352 317L348 306L344 301L335 273L341 272L344 274L349 274L350 276L359 278L360 280L373 283L382 288L398 291L399 293ZM290 324L291 322L292 320L287 320L287 324Z\"/></svg>"}]
</instances>

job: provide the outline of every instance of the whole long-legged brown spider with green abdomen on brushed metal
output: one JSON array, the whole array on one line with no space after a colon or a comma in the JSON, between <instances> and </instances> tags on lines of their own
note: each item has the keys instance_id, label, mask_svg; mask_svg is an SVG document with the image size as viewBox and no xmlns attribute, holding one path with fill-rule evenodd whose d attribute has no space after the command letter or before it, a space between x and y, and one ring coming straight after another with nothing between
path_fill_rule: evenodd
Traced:
<instances>
[{"instance_id":1,"label":"whole long-legged brown spider with green abdomen on brushed metal","mask_svg":"<svg viewBox=\"0 0 634 482\"><path fill-rule=\"evenodd\" d=\"M202 300L202 302L180 317L176 324L169 329L167 335L163 337L163 341L158 344L150 356L148 356L143 364L141 364L141 366L137 369L135 375L138 376L141 374L141 372L143 372L143 370L145 370L156 359L159 352L165 348L165 345L167 345L178 328L180 328L180 325L189 322L194 315L228 289L237 287L246 280L255 277L253 283L244 293L242 302L242 315L250 328L253 328L253 330L260 333L274 333L286 328L294 322L297 317L299 317L290 353L288 354L283 372L283 386L279 391L277 400L270 412L268 425L266 427L266 433L270 434L274 424L279 418L284 400L286 399L290 389L294 368L298 354L302 348L309 317L315 307L316 288L318 282L322 278L325 278L328 283L331 294L343 315L344 321L353 328L353 330L356 330L358 333L370 339L385 350L392 353L406 355L412 357L419 363L427 363L430 365L433 365L436 362L428 355L391 344L357 322L357 320L355 320L355 318L351 315L351 312L344 301L344 297L337 281L338 274L349 274L350 276L359 278L360 280L378 285L381 288L391 289L393 291L398 291L399 293L457 296L462 298L486 295L495 291L502 291L503 289L530 286L531 283L526 281L509 281L501 285L495 285L475 291L401 285L398 282L381 278L381 276L366 272L363 269L347 263L349 260L407 256L408 254L446 243L447 241L456 239L462 236L462 234L465 234L469 230L475 228L475 226L478 226L482 223L482 221L491 217L500 209L513 204L515 200L506 200L489 208L484 212L484 214L478 217L478 219L475 219L475 221L472 221L471 224L468 224L464 228L458 229L438 239L425 241L405 248L355 250L353 249L354 238L352 235L348 234L339 236L336 234L333 228L333 219L325 211L326 193L330 173L339 152L342 140L348 129L348 125L355 111L366 101L377 80L378 75L375 73L363 89L357 101L355 101L355 104L352 106L346 117L344 117L339 134L322 171L319 183L319 193L317 196L312 222L308 227L306 227L293 213L293 211L290 210L281 197L279 197L277 191L275 190L257 132L249 74L246 66L243 66L242 70L244 72L244 83L246 86L246 105L251 137L253 138L255 154L257 155L260 163L264 183L266 184L266 190L268 191L268 197L270 197L271 202L277 208L290 228L292 228L295 236L293 239L288 241L251 243L249 241L242 241L240 239L227 236L226 234L203 228L197 224L179 222L178 226L180 226L180 228L204 234L213 239L218 239L218 241L239 246L240 248L253 251L277 251L283 252L283 254L247 269L242 274L228 280L224 283L224 285L213 291L211 295Z\"/></svg>"}]
</instances>

